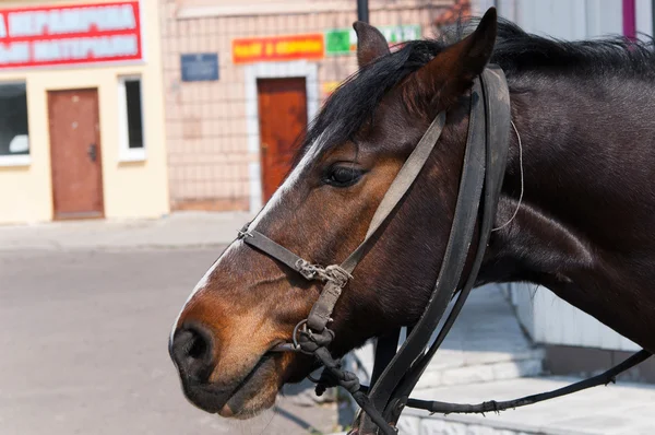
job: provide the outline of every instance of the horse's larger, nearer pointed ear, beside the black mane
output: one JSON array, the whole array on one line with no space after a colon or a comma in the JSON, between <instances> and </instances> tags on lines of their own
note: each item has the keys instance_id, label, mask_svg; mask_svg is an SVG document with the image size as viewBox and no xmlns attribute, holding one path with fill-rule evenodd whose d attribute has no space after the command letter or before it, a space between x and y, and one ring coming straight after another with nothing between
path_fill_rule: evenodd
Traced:
<instances>
[{"instance_id":1,"label":"horse's larger, nearer pointed ear, beside the black mane","mask_svg":"<svg viewBox=\"0 0 655 435\"><path fill-rule=\"evenodd\" d=\"M415 77L421 93L440 105L449 105L473 85L484 70L496 44L498 17L489 8L477 28L467 37L448 47L419 69Z\"/></svg>"}]
</instances>

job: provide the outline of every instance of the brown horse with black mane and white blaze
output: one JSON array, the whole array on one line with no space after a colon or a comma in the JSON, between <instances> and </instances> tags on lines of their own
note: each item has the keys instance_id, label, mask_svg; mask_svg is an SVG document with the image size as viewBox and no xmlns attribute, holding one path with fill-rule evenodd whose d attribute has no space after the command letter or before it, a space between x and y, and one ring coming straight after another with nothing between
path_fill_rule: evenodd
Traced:
<instances>
[{"instance_id":1,"label":"brown horse with black mane and white blaze","mask_svg":"<svg viewBox=\"0 0 655 435\"><path fill-rule=\"evenodd\" d=\"M325 102L296 162L250 223L317 264L343 261L431 122L434 150L390 211L336 301L330 353L415 325L428 304L454 221L476 78L507 77L511 134L476 285L528 282L655 352L655 54L624 38L562 42L499 20L405 43L393 52L362 22L359 70ZM467 254L466 268L475 256ZM453 295L458 289L453 289ZM320 297L315 281L239 236L175 320L169 351L187 398L225 418L271 408L317 368L275 352Z\"/></svg>"}]
</instances>

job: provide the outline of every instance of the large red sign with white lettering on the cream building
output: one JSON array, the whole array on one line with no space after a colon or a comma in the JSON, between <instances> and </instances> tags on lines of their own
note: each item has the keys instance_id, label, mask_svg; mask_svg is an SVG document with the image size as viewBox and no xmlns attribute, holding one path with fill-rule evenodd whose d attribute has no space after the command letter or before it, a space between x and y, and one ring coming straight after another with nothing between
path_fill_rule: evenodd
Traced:
<instances>
[{"instance_id":1,"label":"large red sign with white lettering on the cream building","mask_svg":"<svg viewBox=\"0 0 655 435\"><path fill-rule=\"evenodd\" d=\"M139 1L0 9L0 69L143 59Z\"/></svg>"}]
</instances>

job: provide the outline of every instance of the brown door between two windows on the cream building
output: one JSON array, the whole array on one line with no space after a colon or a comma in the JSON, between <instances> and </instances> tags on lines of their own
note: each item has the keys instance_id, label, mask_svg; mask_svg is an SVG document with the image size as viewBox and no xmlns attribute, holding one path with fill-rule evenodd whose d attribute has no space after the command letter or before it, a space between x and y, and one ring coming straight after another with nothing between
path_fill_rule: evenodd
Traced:
<instances>
[{"instance_id":1,"label":"brown door between two windows on the cream building","mask_svg":"<svg viewBox=\"0 0 655 435\"><path fill-rule=\"evenodd\" d=\"M48 92L55 219L102 217L97 90Z\"/></svg>"}]
</instances>

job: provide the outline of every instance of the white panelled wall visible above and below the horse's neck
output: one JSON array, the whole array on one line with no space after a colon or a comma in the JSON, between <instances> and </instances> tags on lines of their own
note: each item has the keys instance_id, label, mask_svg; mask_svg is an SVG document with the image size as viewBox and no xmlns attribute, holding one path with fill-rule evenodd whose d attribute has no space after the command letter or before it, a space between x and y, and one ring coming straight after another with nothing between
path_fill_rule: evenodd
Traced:
<instances>
[{"instance_id":1,"label":"white panelled wall visible above and below the horse's neck","mask_svg":"<svg viewBox=\"0 0 655 435\"><path fill-rule=\"evenodd\" d=\"M489 0L480 0L479 7L488 3ZM496 4L501 16L538 35L574 40L622 33L621 0L496 0ZM639 32L651 34L652 20L651 0L636 0ZM539 343L639 349L548 289L511 284L510 292L519 320Z\"/></svg>"}]
</instances>

